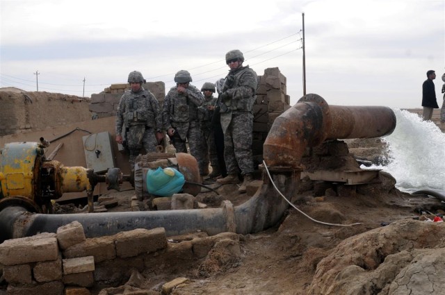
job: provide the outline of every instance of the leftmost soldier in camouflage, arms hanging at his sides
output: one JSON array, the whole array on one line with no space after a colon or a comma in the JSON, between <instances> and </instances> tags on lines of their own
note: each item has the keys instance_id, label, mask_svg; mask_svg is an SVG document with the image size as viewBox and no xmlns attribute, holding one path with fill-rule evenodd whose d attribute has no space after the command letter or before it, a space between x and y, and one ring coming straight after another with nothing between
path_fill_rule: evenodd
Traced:
<instances>
[{"instance_id":1,"label":"leftmost soldier in camouflage, arms hanging at his sides","mask_svg":"<svg viewBox=\"0 0 445 295\"><path fill-rule=\"evenodd\" d=\"M144 148L147 153L155 152L163 139L163 122L158 100L152 92L142 87L145 79L140 71L132 71L128 83L131 90L122 95L116 112L116 142L127 146L133 175L134 160L140 150ZM123 126L125 141L122 137Z\"/></svg>"}]
</instances>

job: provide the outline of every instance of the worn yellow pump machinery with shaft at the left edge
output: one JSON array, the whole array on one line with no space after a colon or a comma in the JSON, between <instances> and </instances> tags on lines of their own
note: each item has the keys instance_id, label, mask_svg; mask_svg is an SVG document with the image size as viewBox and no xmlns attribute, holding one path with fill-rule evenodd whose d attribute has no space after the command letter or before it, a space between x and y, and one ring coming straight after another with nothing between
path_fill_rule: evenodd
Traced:
<instances>
[{"instance_id":1,"label":"worn yellow pump machinery with shaft at the left edge","mask_svg":"<svg viewBox=\"0 0 445 295\"><path fill-rule=\"evenodd\" d=\"M42 142L43 139L41 139ZM120 169L108 169L105 176L92 169L65 167L56 160L46 160L44 147L38 142L13 142L0 150L0 210L10 205L22 205L30 212L51 213L51 200L65 192L88 194L92 210L92 192L97 183L113 182L108 187L118 189L122 183Z\"/></svg>"}]
</instances>

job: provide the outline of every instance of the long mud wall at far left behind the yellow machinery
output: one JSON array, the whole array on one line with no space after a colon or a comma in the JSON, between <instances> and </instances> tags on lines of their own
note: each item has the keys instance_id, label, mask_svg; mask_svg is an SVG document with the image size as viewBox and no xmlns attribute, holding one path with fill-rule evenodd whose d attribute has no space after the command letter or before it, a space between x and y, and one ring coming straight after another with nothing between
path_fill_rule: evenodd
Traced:
<instances>
[{"instance_id":1,"label":"long mud wall at far left behind the yellow machinery","mask_svg":"<svg viewBox=\"0 0 445 295\"><path fill-rule=\"evenodd\" d=\"M0 91L0 136L91 119L90 99L49 92Z\"/></svg>"}]
</instances>

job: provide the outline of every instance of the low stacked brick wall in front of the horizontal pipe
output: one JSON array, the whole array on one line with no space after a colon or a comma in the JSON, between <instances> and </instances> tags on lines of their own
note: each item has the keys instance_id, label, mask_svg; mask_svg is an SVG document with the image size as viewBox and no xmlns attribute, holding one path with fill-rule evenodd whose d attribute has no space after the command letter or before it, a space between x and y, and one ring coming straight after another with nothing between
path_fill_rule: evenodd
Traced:
<instances>
[{"instance_id":1,"label":"low stacked brick wall in front of the horizontal pipe","mask_svg":"<svg viewBox=\"0 0 445 295\"><path fill-rule=\"evenodd\" d=\"M215 269L216 249L222 261L238 260L238 235L197 233L167 239L164 228L138 228L86 238L83 226L73 221L57 233L6 240L0 244L0 264L9 295L97 294L99 290L122 294L129 286L137 294L148 294L142 292L152 286L144 282L156 285L159 273L175 276L191 268ZM207 269L207 264L212 268ZM144 278L142 273L152 277ZM184 280L161 281L163 294L170 294L174 282ZM124 286L122 292L113 288L118 286ZM112 293L106 291L110 287Z\"/></svg>"}]
</instances>

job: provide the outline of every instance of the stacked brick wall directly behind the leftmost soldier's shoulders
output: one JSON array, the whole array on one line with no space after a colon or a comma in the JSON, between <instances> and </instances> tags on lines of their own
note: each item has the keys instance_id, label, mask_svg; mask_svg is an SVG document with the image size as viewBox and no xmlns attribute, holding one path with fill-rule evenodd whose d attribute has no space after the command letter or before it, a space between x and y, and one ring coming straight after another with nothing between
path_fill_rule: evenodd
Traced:
<instances>
[{"instance_id":1,"label":"stacked brick wall directly behind the leftmost soldier's shoulders","mask_svg":"<svg viewBox=\"0 0 445 295\"><path fill-rule=\"evenodd\" d=\"M143 87L152 92L162 106L163 100L165 99L165 83L161 81L147 82L143 84ZM119 100L125 90L130 90L128 83L111 84L111 86L106 87L103 92L92 94L90 112L94 112L97 118L115 116L118 110Z\"/></svg>"}]
</instances>

